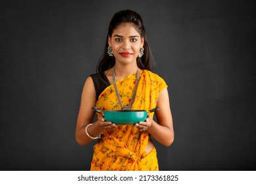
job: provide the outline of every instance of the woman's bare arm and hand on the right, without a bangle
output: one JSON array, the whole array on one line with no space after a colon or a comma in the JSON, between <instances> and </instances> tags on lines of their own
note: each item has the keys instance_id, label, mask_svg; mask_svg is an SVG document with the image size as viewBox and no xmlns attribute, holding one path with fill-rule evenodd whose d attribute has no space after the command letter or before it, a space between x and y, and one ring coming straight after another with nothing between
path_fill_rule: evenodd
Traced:
<instances>
[{"instance_id":1,"label":"woman's bare arm and hand on the right, without a bangle","mask_svg":"<svg viewBox=\"0 0 256 184\"><path fill-rule=\"evenodd\" d=\"M152 120L151 117L148 117L145 122L140 122L140 125L137 124L136 126L139 128L146 126L147 131L155 140L168 147L174 141L174 129L167 89L159 92L157 107L160 108L160 110L155 112L157 122Z\"/></svg>"}]
</instances>

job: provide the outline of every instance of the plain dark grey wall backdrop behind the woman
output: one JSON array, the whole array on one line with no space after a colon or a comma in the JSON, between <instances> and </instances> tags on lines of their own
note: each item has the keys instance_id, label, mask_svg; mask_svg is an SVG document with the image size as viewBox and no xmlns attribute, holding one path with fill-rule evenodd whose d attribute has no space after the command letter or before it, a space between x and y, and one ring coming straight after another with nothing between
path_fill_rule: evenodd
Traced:
<instances>
[{"instance_id":1,"label":"plain dark grey wall backdrop behind the woman","mask_svg":"<svg viewBox=\"0 0 256 184\"><path fill-rule=\"evenodd\" d=\"M175 140L161 170L255 170L255 1L1 1L1 170L89 170L80 96L113 14L143 17Z\"/></svg>"}]
</instances>

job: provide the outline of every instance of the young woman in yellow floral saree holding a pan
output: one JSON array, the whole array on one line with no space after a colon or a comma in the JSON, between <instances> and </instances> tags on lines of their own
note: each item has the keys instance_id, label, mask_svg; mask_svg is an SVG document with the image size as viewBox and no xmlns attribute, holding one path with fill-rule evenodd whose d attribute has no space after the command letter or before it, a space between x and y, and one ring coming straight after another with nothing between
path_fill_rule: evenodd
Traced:
<instances>
[{"instance_id":1,"label":"young woman in yellow floral saree holding a pan","mask_svg":"<svg viewBox=\"0 0 256 184\"><path fill-rule=\"evenodd\" d=\"M174 141L174 130L167 85L151 72L152 62L140 14L116 12L97 67L99 73L89 76L84 84L76 125L79 145L98 139L91 170L159 170L151 137L168 147ZM145 122L118 126L100 114L92 124L93 106L103 111L160 110L155 112L157 122L149 112Z\"/></svg>"}]
</instances>

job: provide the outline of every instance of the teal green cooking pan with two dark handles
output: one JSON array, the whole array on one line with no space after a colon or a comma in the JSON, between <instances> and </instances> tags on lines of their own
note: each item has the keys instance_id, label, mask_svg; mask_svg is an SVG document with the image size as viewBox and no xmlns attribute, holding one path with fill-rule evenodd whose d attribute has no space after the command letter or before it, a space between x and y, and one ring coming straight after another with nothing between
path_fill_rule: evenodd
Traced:
<instances>
[{"instance_id":1,"label":"teal green cooking pan with two dark handles","mask_svg":"<svg viewBox=\"0 0 256 184\"><path fill-rule=\"evenodd\" d=\"M105 110L102 112L99 108L93 106L91 108L95 112L100 113L107 122L113 122L117 125L136 124L138 122L145 122L147 118L146 110ZM153 108L150 112L155 112L159 108Z\"/></svg>"}]
</instances>

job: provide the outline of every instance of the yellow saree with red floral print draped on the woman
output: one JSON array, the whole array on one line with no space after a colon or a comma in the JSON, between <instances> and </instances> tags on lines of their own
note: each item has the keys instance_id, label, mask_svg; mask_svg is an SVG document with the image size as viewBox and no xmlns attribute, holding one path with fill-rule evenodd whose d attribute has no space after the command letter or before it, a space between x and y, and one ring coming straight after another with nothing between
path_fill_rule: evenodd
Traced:
<instances>
[{"instance_id":1,"label":"yellow saree with red floral print draped on the woman","mask_svg":"<svg viewBox=\"0 0 256 184\"><path fill-rule=\"evenodd\" d=\"M131 101L135 80L136 74L132 74L116 82L124 106ZM166 87L165 81L157 74L141 70L131 109L149 112L157 105L159 91ZM95 106L103 111L121 109L114 85L109 85L99 95ZM153 114L150 114L151 117ZM151 152L145 152L148 141L149 133L140 131L134 125L117 126L116 129L104 131L93 147L91 170L159 170L157 150L153 148Z\"/></svg>"}]
</instances>

